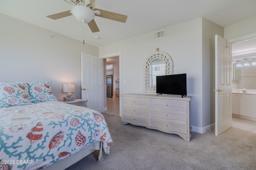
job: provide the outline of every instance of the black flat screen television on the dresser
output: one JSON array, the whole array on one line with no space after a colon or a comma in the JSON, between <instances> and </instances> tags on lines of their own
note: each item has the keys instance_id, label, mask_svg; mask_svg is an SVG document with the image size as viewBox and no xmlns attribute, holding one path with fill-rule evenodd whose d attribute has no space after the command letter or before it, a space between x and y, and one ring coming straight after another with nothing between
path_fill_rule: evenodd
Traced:
<instances>
[{"instance_id":1,"label":"black flat screen television on the dresser","mask_svg":"<svg viewBox=\"0 0 256 170\"><path fill-rule=\"evenodd\" d=\"M187 74L156 76L156 93L187 95Z\"/></svg>"}]
</instances>

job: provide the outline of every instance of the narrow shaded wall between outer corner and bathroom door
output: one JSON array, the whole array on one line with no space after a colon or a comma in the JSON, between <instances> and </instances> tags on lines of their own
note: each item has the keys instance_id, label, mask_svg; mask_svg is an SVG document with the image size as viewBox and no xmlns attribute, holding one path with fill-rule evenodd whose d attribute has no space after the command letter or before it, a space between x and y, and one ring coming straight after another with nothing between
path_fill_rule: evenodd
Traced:
<instances>
[{"instance_id":1,"label":"narrow shaded wall between outer corner and bathroom door","mask_svg":"<svg viewBox=\"0 0 256 170\"><path fill-rule=\"evenodd\" d=\"M215 35L224 37L224 27L205 18L202 21L202 127L206 132L206 129L211 129L208 126L215 123Z\"/></svg>"}]
</instances>

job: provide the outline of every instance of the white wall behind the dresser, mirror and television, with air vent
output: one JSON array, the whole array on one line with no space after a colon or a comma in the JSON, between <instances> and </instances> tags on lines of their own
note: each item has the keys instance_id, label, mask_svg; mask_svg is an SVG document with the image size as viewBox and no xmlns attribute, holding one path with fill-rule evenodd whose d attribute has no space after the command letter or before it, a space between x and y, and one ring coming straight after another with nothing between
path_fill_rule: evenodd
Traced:
<instances>
[{"instance_id":1,"label":"white wall behind the dresser, mirror and television, with air vent","mask_svg":"<svg viewBox=\"0 0 256 170\"><path fill-rule=\"evenodd\" d=\"M100 47L100 56L121 52L122 91L143 93L144 61L159 48L170 57L174 74L187 73L188 96L192 96L191 125L202 127L202 18L166 27L165 38L153 39L154 32ZM126 81L127 83L124 83Z\"/></svg>"}]
</instances>

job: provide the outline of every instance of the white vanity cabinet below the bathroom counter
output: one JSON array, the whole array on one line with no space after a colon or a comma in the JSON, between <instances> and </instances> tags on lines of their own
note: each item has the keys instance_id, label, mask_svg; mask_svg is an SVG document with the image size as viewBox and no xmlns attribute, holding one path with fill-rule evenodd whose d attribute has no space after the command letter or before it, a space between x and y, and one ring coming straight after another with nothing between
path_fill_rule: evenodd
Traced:
<instances>
[{"instance_id":1,"label":"white vanity cabinet below the bathroom counter","mask_svg":"<svg viewBox=\"0 0 256 170\"><path fill-rule=\"evenodd\" d=\"M232 113L236 115L246 116L255 120L256 118L256 94L232 94ZM236 116L237 117L237 116Z\"/></svg>"}]
</instances>

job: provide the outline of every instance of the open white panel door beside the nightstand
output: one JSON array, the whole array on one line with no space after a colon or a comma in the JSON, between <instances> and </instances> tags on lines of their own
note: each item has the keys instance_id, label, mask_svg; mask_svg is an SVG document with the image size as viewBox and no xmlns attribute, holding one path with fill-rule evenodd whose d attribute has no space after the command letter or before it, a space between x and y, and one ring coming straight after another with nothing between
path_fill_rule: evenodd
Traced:
<instances>
[{"instance_id":1,"label":"open white panel door beside the nightstand","mask_svg":"<svg viewBox=\"0 0 256 170\"><path fill-rule=\"evenodd\" d=\"M82 99L87 107L103 112L102 59L82 53Z\"/></svg>"}]
</instances>

